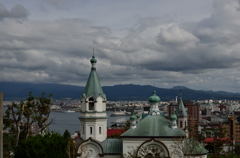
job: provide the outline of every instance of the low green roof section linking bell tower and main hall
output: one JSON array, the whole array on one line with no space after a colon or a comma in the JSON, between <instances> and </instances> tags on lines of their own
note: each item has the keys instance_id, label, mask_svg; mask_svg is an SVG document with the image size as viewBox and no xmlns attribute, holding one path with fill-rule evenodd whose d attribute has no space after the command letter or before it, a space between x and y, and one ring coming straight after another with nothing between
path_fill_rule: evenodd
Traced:
<instances>
[{"instance_id":1,"label":"low green roof section linking bell tower and main hall","mask_svg":"<svg viewBox=\"0 0 240 158\"><path fill-rule=\"evenodd\" d=\"M122 153L122 139L121 138L107 138L102 143L104 154L121 154Z\"/></svg>"}]
</instances>

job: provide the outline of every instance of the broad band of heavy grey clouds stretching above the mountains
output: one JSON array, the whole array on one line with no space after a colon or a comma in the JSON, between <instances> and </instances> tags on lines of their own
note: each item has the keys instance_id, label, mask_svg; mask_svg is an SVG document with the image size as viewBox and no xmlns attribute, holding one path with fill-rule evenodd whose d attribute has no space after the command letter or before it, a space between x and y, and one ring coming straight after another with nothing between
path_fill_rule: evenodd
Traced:
<instances>
[{"instance_id":1,"label":"broad band of heavy grey clouds stretching above the mountains","mask_svg":"<svg viewBox=\"0 0 240 158\"><path fill-rule=\"evenodd\" d=\"M238 1L218 0L212 14L199 22L177 24L169 17L137 16L133 26L120 29L83 18L21 23L5 18L0 22L0 80L84 85L94 48L103 85L218 89L235 84L237 89L237 7Z\"/></svg>"}]
</instances>

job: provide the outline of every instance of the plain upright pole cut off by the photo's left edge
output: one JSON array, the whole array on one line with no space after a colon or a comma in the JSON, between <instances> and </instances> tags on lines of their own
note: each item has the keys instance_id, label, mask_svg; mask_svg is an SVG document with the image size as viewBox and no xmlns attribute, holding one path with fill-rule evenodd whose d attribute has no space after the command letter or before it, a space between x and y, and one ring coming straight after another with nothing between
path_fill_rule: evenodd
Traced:
<instances>
[{"instance_id":1,"label":"plain upright pole cut off by the photo's left edge","mask_svg":"<svg viewBox=\"0 0 240 158\"><path fill-rule=\"evenodd\" d=\"M3 93L0 92L0 158L3 158Z\"/></svg>"}]
</instances>

